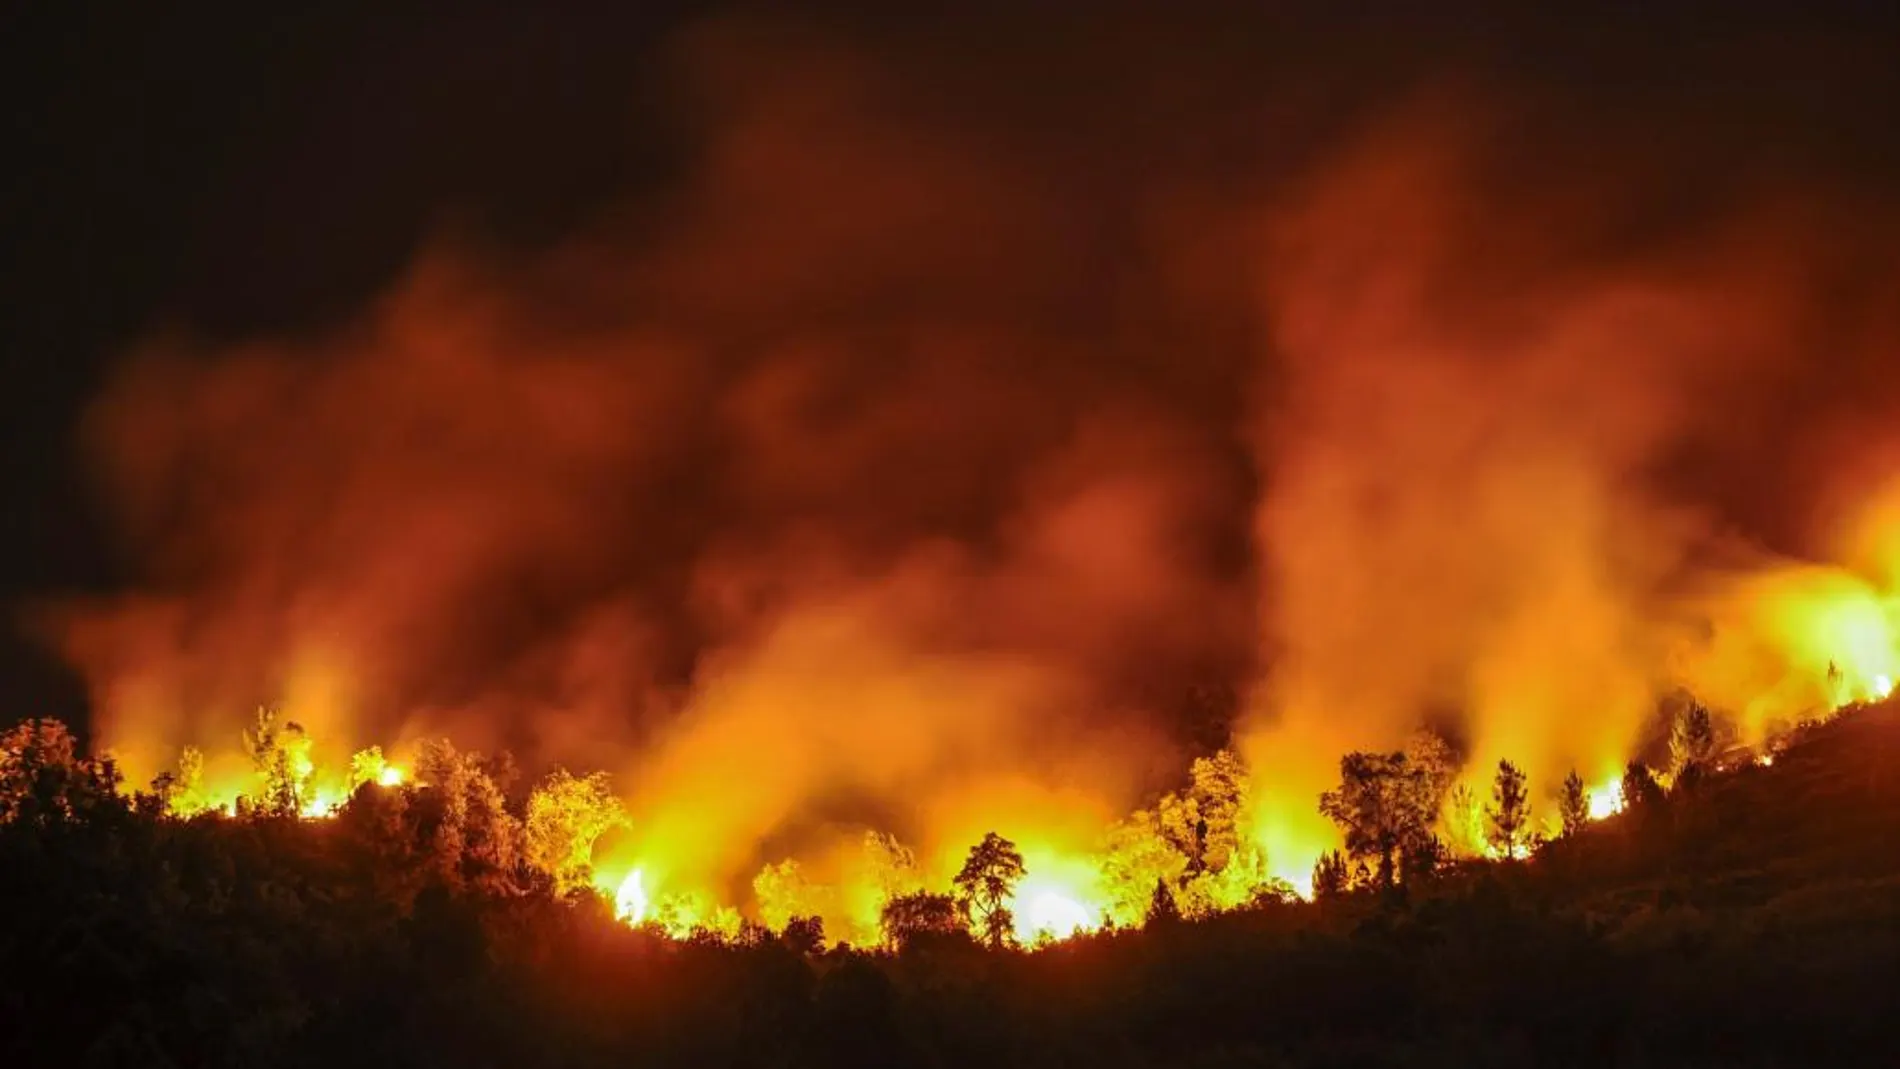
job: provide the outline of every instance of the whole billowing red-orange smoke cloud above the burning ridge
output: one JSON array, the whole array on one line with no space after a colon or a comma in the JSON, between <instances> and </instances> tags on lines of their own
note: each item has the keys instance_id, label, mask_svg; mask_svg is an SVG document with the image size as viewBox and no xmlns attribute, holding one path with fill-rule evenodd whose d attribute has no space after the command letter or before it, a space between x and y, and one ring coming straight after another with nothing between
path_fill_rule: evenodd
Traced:
<instances>
[{"instance_id":1,"label":"whole billowing red-orange smoke cloud above the burning ridge","mask_svg":"<svg viewBox=\"0 0 1900 1069\"><path fill-rule=\"evenodd\" d=\"M1208 682L1284 873L1338 756L1421 722L1552 784L1680 685L1744 714L1729 649L1792 642L1746 583L1879 475L1811 478L1875 448L1811 429L1892 410L1887 207L1300 40L1102 34L1074 99L1011 93L1034 49L701 28L661 194L150 342L86 427L141 581L49 613L101 737L148 777L279 704L331 761L606 767L616 849L735 885L866 826L1087 849Z\"/></svg>"}]
</instances>

